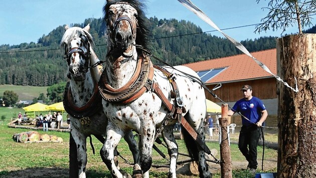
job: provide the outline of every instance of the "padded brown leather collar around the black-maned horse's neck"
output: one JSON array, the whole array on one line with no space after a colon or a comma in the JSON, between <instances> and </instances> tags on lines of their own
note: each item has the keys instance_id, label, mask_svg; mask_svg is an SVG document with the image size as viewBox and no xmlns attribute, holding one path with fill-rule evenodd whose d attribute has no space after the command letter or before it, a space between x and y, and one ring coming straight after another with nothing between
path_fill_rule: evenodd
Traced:
<instances>
[{"instance_id":1,"label":"padded brown leather collar around the black-maned horse's neck","mask_svg":"<svg viewBox=\"0 0 316 178\"><path fill-rule=\"evenodd\" d=\"M99 80L99 90L103 99L109 102L129 103L136 100L148 87L151 87L153 66L149 56L142 54L137 62L135 72L131 79L121 88L109 85L107 74L104 70ZM150 85L150 86L148 86Z\"/></svg>"}]
</instances>

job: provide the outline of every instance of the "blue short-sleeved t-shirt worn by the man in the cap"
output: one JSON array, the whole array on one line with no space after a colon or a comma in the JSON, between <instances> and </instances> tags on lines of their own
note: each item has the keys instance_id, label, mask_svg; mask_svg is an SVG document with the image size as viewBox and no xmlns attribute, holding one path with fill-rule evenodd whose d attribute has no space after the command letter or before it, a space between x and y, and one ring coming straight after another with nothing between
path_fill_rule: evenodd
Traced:
<instances>
[{"instance_id":1,"label":"blue short-sleeved t-shirt worn by the man in the cap","mask_svg":"<svg viewBox=\"0 0 316 178\"><path fill-rule=\"evenodd\" d=\"M238 100L232 108L233 111L240 112L253 123L257 123L260 120L261 111L265 109L263 102L255 96L252 96L250 100L245 98ZM248 126L253 123L242 116L242 125Z\"/></svg>"}]
</instances>

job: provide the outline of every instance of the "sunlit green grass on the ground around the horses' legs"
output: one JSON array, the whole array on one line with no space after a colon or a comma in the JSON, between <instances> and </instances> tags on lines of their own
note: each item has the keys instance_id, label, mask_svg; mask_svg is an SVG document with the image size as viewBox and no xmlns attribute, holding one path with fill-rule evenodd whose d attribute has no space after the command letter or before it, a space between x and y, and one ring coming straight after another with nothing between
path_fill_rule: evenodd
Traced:
<instances>
[{"instance_id":1,"label":"sunlit green grass on the ground around the horses' legs","mask_svg":"<svg viewBox=\"0 0 316 178\"><path fill-rule=\"evenodd\" d=\"M49 134L54 134L63 138L62 143L18 143L13 141L12 135L15 133L28 131L23 128L9 128L7 125L0 125L0 175L6 175L10 171L24 170L29 168L39 167L60 167L68 170L69 167L69 133L49 131ZM38 130L41 134L44 133ZM45 132L46 133L46 132ZM87 177L108 177L109 171L105 164L102 162L98 151L102 147L102 144L93 139L93 144L96 150L96 154L93 155L91 146L87 145L88 153L88 165L87 165ZM177 140L179 144L179 152L186 153L186 148L183 140ZM207 142L207 145L212 149L219 149L219 144L216 142ZM162 145L157 145L166 155L167 149ZM122 139L119 143L118 151L124 158L132 161L132 155L128 149L127 143ZM241 155L236 144L231 144L231 155L232 160L243 160L244 157ZM258 146L258 157L262 155L262 147ZM265 159L276 157L277 153L273 149L265 149ZM220 153L216 155L220 157ZM181 156L179 156L179 159ZM123 162L120 159L120 162ZM165 164L167 160L163 159L156 151L153 151L153 162L154 164ZM130 166L121 167L123 170L132 173ZM247 177L248 171L234 170L234 177ZM167 172L155 171L154 168L150 171L151 177L168 177ZM214 177L220 177L220 173L214 174Z\"/></svg>"}]
</instances>

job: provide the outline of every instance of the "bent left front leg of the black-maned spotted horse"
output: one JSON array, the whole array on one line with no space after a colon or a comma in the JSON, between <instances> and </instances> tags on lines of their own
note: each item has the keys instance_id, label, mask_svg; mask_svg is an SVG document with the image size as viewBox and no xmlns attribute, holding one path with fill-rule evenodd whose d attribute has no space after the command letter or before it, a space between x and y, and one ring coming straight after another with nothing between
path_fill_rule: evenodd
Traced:
<instances>
[{"instance_id":1,"label":"bent left front leg of the black-maned spotted horse","mask_svg":"<svg viewBox=\"0 0 316 178\"><path fill-rule=\"evenodd\" d=\"M117 168L114 161L114 149L122 138L122 135L124 135L124 132L110 121L106 129L106 139L100 150L101 158L110 170L112 177L128 177L126 172L121 172Z\"/></svg>"}]
</instances>

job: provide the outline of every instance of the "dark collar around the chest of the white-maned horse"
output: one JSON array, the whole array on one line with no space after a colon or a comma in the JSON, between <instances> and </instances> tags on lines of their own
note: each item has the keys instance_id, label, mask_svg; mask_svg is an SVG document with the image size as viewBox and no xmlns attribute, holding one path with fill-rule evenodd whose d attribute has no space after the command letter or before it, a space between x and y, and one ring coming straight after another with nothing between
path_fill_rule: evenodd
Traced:
<instances>
[{"instance_id":1,"label":"dark collar around the chest of the white-maned horse","mask_svg":"<svg viewBox=\"0 0 316 178\"><path fill-rule=\"evenodd\" d=\"M70 82L68 81L64 91L63 103L67 113L75 118L89 117L102 110L102 98L97 86L89 101L84 106L78 107L73 101Z\"/></svg>"}]
</instances>

